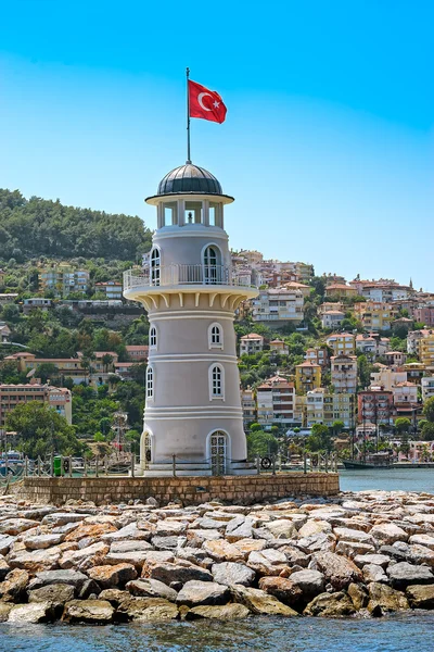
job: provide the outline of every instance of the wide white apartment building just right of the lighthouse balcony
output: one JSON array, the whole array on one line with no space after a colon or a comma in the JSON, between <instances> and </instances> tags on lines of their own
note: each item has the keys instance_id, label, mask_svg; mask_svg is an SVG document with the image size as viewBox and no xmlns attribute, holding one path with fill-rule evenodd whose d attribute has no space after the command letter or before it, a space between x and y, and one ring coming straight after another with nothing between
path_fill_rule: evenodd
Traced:
<instances>
[{"instance_id":1,"label":"wide white apartment building just right of the lighthouse balcony","mask_svg":"<svg viewBox=\"0 0 434 652\"><path fill-rule=\"evenodd\" d=\"M259 297L252 300L253 321L283 326L303 321L304 298L299 290L285 288L260 290Z\"/></svg>"}]
</instances>

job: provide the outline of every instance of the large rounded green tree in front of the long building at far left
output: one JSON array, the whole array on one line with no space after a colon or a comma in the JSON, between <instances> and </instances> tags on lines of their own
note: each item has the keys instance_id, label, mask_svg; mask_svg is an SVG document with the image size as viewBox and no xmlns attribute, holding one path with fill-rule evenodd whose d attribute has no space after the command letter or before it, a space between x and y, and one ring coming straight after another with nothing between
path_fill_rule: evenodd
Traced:
<instances>
[{"instance_id":1,"label":"large rounded green tree in front of the long building at far left","mask_svg":"<svg viewBox=\"0 0 434 652\"><path fill-rule=\"evenodd\" d=\"M17 405L8 414L5 425L17 434L17 449L29 457L81 450L74 427L55 410L38 401Z\"/></svg>"}]
</instances>

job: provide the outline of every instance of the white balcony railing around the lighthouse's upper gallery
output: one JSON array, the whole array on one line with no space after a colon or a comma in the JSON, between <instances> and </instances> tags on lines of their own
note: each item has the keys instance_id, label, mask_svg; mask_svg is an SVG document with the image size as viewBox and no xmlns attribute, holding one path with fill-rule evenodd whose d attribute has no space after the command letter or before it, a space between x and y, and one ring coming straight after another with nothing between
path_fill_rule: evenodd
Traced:
<instances>
[{"instance_id":1,"label":"white balcony railing around the lighthouse's upper gallery","mask_svg":"<svg viewBox=\"0 0 434 652\"><path fill-rule=\"evenodd\" d=\"M124 290L140 287L178 286L178 285L225 285L255 287L247 285L243 278L233 278L230 267L224 265L166 265L154 267L152 272L141 273L135 269L124 272Z\"/></svg>"}]
</instances>

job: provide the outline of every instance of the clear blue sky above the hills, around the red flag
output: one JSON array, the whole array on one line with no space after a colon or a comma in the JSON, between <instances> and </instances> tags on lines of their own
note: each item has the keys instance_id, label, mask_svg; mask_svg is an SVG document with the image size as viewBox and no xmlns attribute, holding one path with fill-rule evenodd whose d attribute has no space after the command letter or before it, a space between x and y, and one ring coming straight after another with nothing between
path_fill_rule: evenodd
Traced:
<instances>
[{"instance_id":1,"label":"clear blue sky above the hills, around the red flag","mask_svg":"<svg viewBox=\"0 0 434 652\"><path fill-rule=\"evenodd\" d=\"M154 228L189 65L228 106L192 159L235 197L232 247L434 290L430 0L0 8L0 187Z\"/></svg>"}]
</instances>

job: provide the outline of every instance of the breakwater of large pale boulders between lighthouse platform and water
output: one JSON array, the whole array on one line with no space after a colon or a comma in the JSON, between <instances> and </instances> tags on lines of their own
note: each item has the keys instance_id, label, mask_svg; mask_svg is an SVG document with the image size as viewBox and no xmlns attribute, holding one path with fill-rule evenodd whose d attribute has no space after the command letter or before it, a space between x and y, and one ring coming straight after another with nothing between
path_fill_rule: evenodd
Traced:
<instances>
[{"instance_id":1,"label":"breakwater of large pale boulders between lighthouse platform and water","mask_svg":"<svg viewBox=\"0 0 434 652\"><path fill-rule=\"evenodd\" d=\"M62 507L0 498L0 620L434 609L434 496Z\"/></svg>"}]
</instances>

